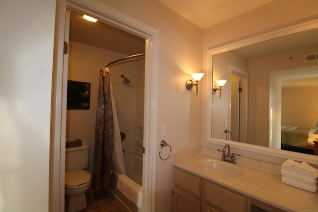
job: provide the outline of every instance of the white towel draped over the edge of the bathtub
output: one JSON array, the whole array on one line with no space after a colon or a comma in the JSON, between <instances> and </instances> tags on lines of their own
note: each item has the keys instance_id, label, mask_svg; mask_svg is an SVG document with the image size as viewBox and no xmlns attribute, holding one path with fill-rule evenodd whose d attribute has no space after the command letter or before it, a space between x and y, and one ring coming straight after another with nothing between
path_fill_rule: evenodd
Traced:
<instances>
[{"instance_id":1,"label":"white towel draped over the edge of the bathtub","mask_svg":"<svg viewBox=\"0 0 318 212\"><path fill-rule=\"evenodd\" d=\"M141 209L143 189L139 184L126 175L120 174L118 176L116 188Z\"/></svg>"}]
</instances>

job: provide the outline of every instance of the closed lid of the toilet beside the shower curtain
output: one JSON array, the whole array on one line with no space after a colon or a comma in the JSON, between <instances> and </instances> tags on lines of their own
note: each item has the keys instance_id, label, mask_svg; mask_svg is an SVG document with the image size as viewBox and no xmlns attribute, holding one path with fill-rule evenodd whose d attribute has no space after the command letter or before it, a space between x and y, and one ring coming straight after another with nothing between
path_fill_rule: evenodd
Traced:
<instances>
[{"instance_id":1,"label":"closed lid of the toilet beside the shower curtain","mask_svg":"<svg viewBox=\"0 0 318 212\"><path fill-rule=\"evenodd\" d=\"M65 173L65 184L69 186L79 186L90 180L90 173L85 170L76 170Z\"/></svg>"}]
</instances>

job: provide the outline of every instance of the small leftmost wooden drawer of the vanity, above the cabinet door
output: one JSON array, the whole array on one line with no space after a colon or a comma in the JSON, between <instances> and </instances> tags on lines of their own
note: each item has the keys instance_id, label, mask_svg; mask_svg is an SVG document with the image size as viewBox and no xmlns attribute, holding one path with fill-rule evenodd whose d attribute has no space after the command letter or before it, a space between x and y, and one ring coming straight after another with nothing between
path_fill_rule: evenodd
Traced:
<instances>
[{"instance_id":1,"label":"small leftmost wooden drawer of the vanity, above the cabinet door","mask_svg":"<svg viewBox=\"0 0 318 212\"><path fill-rule=\"evenodd\" d=\"M184 191L190 194L200 197L201 193L201 179L188 174L180 169L174 168L173 182L175 186L182 188Z\"/></svg>"}]
</instances>

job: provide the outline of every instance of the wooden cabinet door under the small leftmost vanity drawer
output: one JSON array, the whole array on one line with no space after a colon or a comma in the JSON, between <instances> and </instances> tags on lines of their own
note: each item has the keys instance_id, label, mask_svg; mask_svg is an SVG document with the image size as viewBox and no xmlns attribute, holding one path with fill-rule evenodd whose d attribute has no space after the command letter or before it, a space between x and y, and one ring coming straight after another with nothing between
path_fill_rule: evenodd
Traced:
<instances>
[{"instance_id":1,"label":"wooden cabinet door under the small leftmost vanity drawer","mask_svg":"<svg viewBox=\"0 0 318 212\"><path fill-rule=\"evenodd\" d=\"M173 212L200 212L200 200L173 187Z\"/></svg>"}]
</instances>

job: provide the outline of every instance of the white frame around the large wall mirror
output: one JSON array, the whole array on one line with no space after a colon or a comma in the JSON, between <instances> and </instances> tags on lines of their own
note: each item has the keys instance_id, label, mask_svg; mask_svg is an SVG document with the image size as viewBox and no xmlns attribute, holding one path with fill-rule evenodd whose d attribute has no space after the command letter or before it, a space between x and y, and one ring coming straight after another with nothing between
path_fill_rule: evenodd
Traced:
<instances>
[{"instance_id":1,"label":"white frame around the large wall mirror","mask_svg":"<svg viewBox=\"0 0 318 212\"><path fill-rule=\"evenodd\" d=\"M266 155L276 156L276 157L282 157L282 158L293 158L295 160L308 162L311 164L317 164L318 165L318 155L310 155L305 153L299 153L299 152L293 152L293 151L287 151L282 149L275 149L275 148L269 148L265 146L257 146L253 144L248 143L241 143L237 141L227 141L222 139L216 139L212 138L212 82L213 82L213 55L228 52L231 50L235 50L237 48L248 46L251 44L256 44L259 42L279 38L282 36L310 30L318 28L318 19L313 19L311 21L306 21L300 24L292 25L286 28L282 28L279 30L275 30L272 32L268 32L265 34L261 34L255 37L243 39L238 42L226 44L220 47L211 48L208 50L208 58L207 58L207 87L206 87L206 98L207 98L207 104L206 104L206 116L204 117L206 122L206 142L207 143L214 143L214 144L221 144L224 145L226 143L231 144L234 148L237 149L243 149L251 152L256 153L262 153ZM269 107L269 106L268 106ZM203 145L204 146L204 145Z\"/></svg>"}]
</instances>

